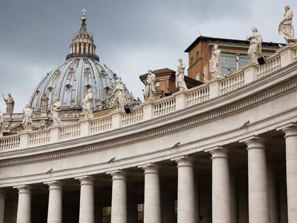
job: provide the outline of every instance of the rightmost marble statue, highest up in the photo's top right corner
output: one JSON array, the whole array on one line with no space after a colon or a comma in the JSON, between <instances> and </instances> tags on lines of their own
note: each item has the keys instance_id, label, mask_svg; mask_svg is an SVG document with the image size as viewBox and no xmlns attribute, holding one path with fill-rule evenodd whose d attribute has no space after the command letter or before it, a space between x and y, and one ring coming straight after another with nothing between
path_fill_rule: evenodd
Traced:
<instances>
[{"instance_id":1,"label":"rightmost marble statue, highest up in the photo's top right corner","mask_svg":"<svg viewBox=\"0 0 297 223\"><path fill-rule=\"evenodd\" d=\"M292 19L293 11L290 10L290 5L285 5L285 14L279 24L278 32L284 36L287 44L297 43L297 39L295 39L294 34L292 33Z\"/></svg>"}]
</instances>

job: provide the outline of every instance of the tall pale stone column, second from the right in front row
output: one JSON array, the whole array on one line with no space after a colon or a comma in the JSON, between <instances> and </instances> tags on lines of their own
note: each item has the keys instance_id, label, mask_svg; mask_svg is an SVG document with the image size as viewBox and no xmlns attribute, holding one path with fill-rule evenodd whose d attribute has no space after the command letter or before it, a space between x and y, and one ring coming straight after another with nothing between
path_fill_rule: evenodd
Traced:
<instances>
[{"instance_id":1,"label":"tall pale stone column, second from the right in front row","mask_svg":"<svg viewBox=\"0 0 297 223\"><path fill-rule=\"evenodd\" d=\"M248 217L249 223L270 223L267 185L267 164L264 141L246 142L248 157Z\"/></svg>"}]
</instances>

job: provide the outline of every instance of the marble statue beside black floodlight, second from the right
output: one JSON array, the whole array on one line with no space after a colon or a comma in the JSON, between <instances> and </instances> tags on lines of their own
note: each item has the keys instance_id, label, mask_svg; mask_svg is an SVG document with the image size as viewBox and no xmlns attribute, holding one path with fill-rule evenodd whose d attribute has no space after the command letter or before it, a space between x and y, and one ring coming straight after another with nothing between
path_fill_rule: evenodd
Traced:
<instances>
[{"instance_id":1,"label":"marble statue beside black floodlight, second from the right","mask_svg":"<svg viewBox=\"0 0 297 223\"><path fill-rule=\"evenodd\" d=\"M250 62L255 63L257 59L262 56L262 36L258 33L256 27L253 27L251 31L252 34L247 36L247 40L249 40L247 55L249 56Z\"/></svg>"}]
</instances>

